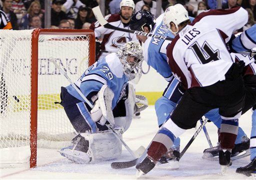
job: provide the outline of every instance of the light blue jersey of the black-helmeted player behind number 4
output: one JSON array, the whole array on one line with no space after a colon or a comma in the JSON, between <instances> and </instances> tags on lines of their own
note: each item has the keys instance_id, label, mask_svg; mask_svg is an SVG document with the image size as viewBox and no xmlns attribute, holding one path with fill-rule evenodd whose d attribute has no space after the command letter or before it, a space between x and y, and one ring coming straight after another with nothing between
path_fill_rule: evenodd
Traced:
<instances>
[{"instance_id":1,"label":"light blue jersey of the black-helmeted player behind number 4","mask_svg":"<svg viewBox=\"0 0 256 180\"><path fill-rule=\"evenodd\" d=\"M153 34L164 35L174 38L172 33L162 24L163 13L156 19ZM189 17L190 21L194 18ZM156 37L148 37L144 43L144 60L148 65L153 67L165 80L170 81L172 78L171 69L167 63L166 47L170 40L159 39Z\"/></svg>"}]
</instances>

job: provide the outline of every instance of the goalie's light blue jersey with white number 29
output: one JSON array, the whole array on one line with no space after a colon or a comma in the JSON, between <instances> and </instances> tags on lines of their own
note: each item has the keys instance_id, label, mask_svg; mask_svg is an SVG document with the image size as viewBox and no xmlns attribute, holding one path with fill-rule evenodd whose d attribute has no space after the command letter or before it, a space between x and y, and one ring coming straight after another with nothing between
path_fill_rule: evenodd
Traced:
<instances>
[{"instance_id":1,"label":"goalie's light blue jersey with white number 29","mask_svg":"<svg viewBox=\"0 0 256 180\"><path fill-rule=\"evenodd\" d=\"M114 108L125 92L127 81L128 78L122 71L118 56L116 53L110 53L92 64L74 83L85 97L90 92L99 91L102 85L106 84L114 93L112 100L112 108ZM66 89L68 93L84 101L71 84Z\"/></svg>"}]
</instances>

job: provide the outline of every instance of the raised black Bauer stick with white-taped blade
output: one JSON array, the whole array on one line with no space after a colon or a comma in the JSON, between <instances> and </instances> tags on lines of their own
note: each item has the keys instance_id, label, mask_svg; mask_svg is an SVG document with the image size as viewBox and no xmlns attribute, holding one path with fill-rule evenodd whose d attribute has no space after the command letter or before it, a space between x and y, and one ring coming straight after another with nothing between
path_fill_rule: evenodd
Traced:
<instances>
[{"instance_id":1,"label":"raised black Bauer stick with white-taped blade","mask_svg":"<svg viewBox=\"0 0 256 180\"><path fill-rule=\"evenodd\" d=\"M129 33L133 33L133 34L136 34L136 35L155 37L155 38L164 39L164 40L173 40L172 37L168 37L168 36L164 36L164 35L146 33L146 32L142 32L142 31L138 31L138 30L131 30L131 29L125 29L125 28L120 28L120 27L113 26L110 23L108 23L106 21L106 19L104 19L104 16L102 15L102 13L100 11L99 6L93 7L92 11L93 11L97 21L100 23L100 25L104 26L105 28L109 28L109 29L113 29L113 30L119 30L119 31L122 31L122 32L129 32ZM238 52L238 53L242 54L242 55L249 55L249 56L256 55L256 52L242 51L242 52ZM255 63L256 63L256 59L255 59Z\"/></svg>"}]
</instances>

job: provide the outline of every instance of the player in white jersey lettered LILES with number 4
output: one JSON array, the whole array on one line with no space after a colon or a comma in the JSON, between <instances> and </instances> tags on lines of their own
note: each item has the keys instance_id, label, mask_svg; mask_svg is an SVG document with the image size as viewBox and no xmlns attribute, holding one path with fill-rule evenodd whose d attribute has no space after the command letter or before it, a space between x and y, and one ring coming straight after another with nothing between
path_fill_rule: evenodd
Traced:
<instances>
[{"instance_id":1,"label":"player in white jersey lettered LILES with number 4","mask_svg":"<svg viewBox=\"0 0 256 180\"><path fill-rule=\"evenodd\" d=\"M165 10L163 22L175 34L166 50L168 63L186 90L154 136L147 156L136 165L138 175L149 172L176 137L194 127L203 114L214 108L219 108L222 118L219 163L224 167L231 165L231 149L244 104L241 76L244 63L233 63L225 42L247 18L245 9L235 7L202 12L189 24L188 12L181 4Z\"/></svg>"}]
</instances>

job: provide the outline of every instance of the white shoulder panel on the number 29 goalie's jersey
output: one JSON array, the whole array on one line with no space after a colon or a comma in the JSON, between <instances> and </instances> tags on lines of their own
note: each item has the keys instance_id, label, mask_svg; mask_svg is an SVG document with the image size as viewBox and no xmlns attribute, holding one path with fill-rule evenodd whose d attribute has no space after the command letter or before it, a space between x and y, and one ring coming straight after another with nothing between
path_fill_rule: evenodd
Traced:
<instances>
[{"instance_id":1,"label":"white shoulder panel on the number 29 goalie's jersey","mask_svg":"<svg viewBox=\"0 0 256 180\"><path fill-rule=\"evenodd\" d=\"M110 53L105 56L105 61L110 69L110 71L118 78L123 75L122 64L116 53Z\"/></svg>"}]
</instances>

